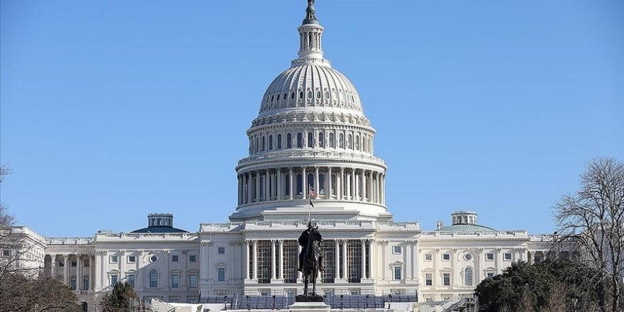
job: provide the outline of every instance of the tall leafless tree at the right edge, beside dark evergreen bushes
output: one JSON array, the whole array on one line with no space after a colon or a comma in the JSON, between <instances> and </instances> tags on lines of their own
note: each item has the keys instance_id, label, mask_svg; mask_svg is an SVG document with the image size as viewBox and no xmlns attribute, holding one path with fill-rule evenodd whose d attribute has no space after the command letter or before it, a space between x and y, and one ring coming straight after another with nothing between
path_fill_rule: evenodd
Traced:
<instances>
[{"instance_id":1,"label":"tall leafless tree at the right edge, beside dark evergreen bushes","mask_svg":"<svg viewBox=\"0 0 624 312\"><path fill-rule=\"evenodd\" d=\"M624 306L624 163L613 158L589 162L580 189L562 196L554 216L557 245L572 248L581 264L599 269L595 286L601 311L620 311Z\"/></svg>"}]
</instances>

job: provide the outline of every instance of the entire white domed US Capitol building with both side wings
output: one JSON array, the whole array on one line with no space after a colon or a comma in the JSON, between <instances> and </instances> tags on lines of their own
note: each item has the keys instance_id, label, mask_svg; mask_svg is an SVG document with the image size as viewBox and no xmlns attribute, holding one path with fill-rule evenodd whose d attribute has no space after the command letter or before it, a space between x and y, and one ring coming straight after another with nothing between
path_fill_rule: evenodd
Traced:
<instances>
[{"instance_id":1,"label":"entire white domed US Capitol building with both side wings","mask_svg":"<svg viewBox=\"0 0 624 312\"><path fill-rule=\"evenodd\" d=\"M431 231L394 221L375 129L353 84L325 59L312 3L297 30L298 57L269 84L247 130L249 155L235 167L238 205L229 223L187 232L174 228L171 214L153 213L146 228L89 238L45 238L16 227L33 245L21 265L43 267L89 306L116 282L169 302L294 296L301 293L296 238L308 211L323 234L317 287L326 296L461 299L512 262L545 257L546 237L479 225L474 211L452 213L450 225ZM311 209L309 189L317 193Z\"/></svg>"}]
</instances>

